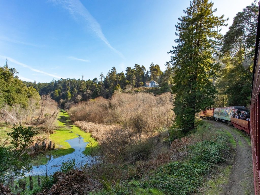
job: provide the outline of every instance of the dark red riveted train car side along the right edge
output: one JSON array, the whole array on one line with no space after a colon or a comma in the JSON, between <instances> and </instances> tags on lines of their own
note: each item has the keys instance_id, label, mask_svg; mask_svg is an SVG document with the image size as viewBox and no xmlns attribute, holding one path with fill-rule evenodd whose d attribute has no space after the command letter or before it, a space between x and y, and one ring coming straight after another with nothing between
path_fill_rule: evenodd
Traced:
<instances>
[{"instance_id":1,"label":"dark red riveted train car side along the right edge","mask_svg":"<svg viewBox=\"0 0 260 195\"><path fill-rule=\"evenodd\" d=\"M252 92L250 103L250 134L252 144L252 159L255 194L260 195L260 56L259 56L259 40L260 40L260 14L258 14L257 33L256 33L256 49L253 69Z\"/></svg>"}]
</instances>

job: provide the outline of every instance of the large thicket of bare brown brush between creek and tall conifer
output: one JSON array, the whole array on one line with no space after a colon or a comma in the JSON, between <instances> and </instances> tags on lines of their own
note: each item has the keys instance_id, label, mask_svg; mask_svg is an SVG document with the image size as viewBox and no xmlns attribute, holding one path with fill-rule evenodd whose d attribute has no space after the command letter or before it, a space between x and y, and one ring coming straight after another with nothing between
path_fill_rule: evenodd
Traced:
<instances>
[{"instance_id":1,"label":"large thicket of bare brown brush between creek and tall conifer","mask_svg":"<svg viewBox=\"0 0 260 195\"><path fill-rule=\"evenodd\" d=\"M135 162L149 157L161 131L171 125L171 98L170 93L114 93L110 100L81 102L69 113L75 125L92 133L109 159Z\"/></svg>"}]
</instances>

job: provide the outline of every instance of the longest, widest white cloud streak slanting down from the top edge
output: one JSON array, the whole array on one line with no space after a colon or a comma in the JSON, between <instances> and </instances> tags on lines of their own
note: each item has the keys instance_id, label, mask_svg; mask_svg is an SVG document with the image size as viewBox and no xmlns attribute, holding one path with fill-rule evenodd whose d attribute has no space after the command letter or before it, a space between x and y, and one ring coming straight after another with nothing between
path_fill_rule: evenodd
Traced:
<instances>
[{"instance_id":1,"label":"longest, widest white cloud streak slanting down from the top edge","mask_svg":"<svg viewBox=\"0 0 260 195\"><path fill-rule=\"evenodd\" d=\"M98 36L106 45L112 49L115 53L119 54L124 58L123 54L113 48L108 42L107 38L103 34L100 24L95 20L95 18L89 13L85 6L79 0L52 0L57 4L61 4L62 7L69 11L69 13L76 19L83 19L86 25Z\"/></svg>"}]
</instances>

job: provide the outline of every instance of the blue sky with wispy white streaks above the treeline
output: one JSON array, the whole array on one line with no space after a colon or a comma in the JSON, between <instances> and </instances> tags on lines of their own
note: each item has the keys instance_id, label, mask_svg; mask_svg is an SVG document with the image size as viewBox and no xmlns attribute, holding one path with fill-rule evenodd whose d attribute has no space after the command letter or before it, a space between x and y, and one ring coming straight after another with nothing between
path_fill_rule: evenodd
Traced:
<instances>
[{"instance_id":1,"label":"blue sky with wispy white streaks above the treeline","mask_svg":"<svg viewBox=\"0 0 260 195\"><path fill-rule=\"evenodd\" d=\"M213 0L230 18L253 1ZM0 66L21 80L94 79L151 62L165 70L175 24L190 0L0 0ZM228 27L223 28L224 34Z\"/></svg>"}]
</instances>

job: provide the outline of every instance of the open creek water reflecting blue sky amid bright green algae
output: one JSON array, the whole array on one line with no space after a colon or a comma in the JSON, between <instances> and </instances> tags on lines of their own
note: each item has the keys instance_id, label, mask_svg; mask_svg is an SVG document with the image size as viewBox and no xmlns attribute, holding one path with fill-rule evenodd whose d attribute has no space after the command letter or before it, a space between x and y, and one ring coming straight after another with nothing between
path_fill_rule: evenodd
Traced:
<instances>
[{"instance_id":1,"label":"open creek water reflecting blue sky amid bright green algae","mask_svg":"<svg viewBox=\"0 0 260 195\"><path fill-rule=\"evenodd\" d=\"M70 127L70 125L73 125L73 123L69 120L69 117L67 116L61 116L61 118L58 120L63 123L64 121L66 121L65 125L68 127ZM84 142L83 138L80 135L78 138L66 140L66 142L68 142L69 145L75 149L74 152L64 156L60 156L58 158L53 158L53 156L46 156L46 159L48 160L47 164L33 166L33 169L26 175L46 175L46 170L48 175L53 174L60 169L62 162L72 160L73 158L75 159L76 166L83 166L87 163L90 164L92 160L91 156L86 156L82 153L88 142Z\"/></svg>"}]
</instances>

